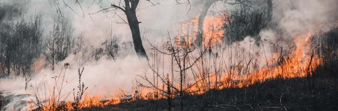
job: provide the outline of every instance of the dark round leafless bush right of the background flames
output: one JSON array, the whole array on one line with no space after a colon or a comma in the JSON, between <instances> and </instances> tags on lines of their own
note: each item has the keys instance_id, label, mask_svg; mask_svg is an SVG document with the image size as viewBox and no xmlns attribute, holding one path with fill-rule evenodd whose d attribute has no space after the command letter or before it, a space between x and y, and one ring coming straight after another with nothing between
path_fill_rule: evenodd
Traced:
<instances>
[{"instance_id":1,"label":"dark round leafless bush right of the background flames","mask_svg":"<svg viewBox=\"0 0 338 111\"><path fill-rule=\"evenodd\" d=\"M267 27L266 11L241 6L224 15L225 41L241 41L246 36L256 37Z\"/></svg>"}]
</instances>

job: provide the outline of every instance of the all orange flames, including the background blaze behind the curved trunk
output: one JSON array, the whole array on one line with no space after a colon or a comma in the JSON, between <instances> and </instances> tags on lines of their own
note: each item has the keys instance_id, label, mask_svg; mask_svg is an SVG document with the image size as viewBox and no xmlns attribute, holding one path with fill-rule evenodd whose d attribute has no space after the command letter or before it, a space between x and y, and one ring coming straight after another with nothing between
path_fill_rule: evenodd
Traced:
<instances>
[{"instance_id":1,"label":"all orange flames, including the background blaze behind the curved trunk","mask_svg":"<svg viewBox=\"0 0 338 111\"><path fill-rule=\"evenodd\" d=\"M228 17L228 16L226 16ZM197 31L197 19L190 20L189 24L193 24L195 26L194 30ZM204 36L205 38L209 38L212 41L211 44L214 46L217 43L221 43L221 37L224 33L224 29L218 27L219 24L223 24L224 22L218 17L206 17L205 26L204 26ZM338 23L338 21L337 21ZM182 27L190 27L189 25L182 25ZM215 28L216 27L216 28ZM316 27L322 28L322 24L316 24ZM210 31L210 29L213 29ZM319 30L320 28L316 28ZM183 33L188 33L189 29L183 28ZM184 32L186 31L186 32ZM293 77L305 77L308 75L312 75L312 71L319 66L322 62L322 57L318 57L312 54L307 54L309 51L310 43L309 39L312 37L312 33L299 34L293 37L293 44L290 46L290 52L286 53L285 57L282 57L279 53L273 53L272 58L266 61L266 66L259 67L258 70L248 71L246 75L239 76L243 74L243 67L241 66L233 66L233 68L228 72L211 72L207 73L206 76L198 76L197 80L191 80L191 83L194 81L198 81L196 84L193 84L186 92L192 95L199 95L206 93L210 89L224 89L229 87L245 87L252 85L257 82L263 82L272 78L293 78ZM183 37L182 37L183 38ZM177 36L177 42L179 47L186 47L185 45L181 45L181 36ZM185 41L188 42L187 46L191 46L192 41L196 38L193 36L184 36ZM206 42L206 41L205 41ZM204 44L205 45L205 44ZM212 48L212 47L210 47ZM249 62L250 63L250 62ZM217 76L222 75L222 77ZM207 79L208 78L208 79ZM166 81L168 83L170 78L167 76ZM189 83L189 82L188 82ZM90 91L84 94L83 99L76 105L76 108L88 108L88 107L104 107L110 104L118 104L122 102L130 102L137 101L140 99L143 100L156 100L156 99L166 99L166 93L161 90L166 90L164 84L163 87L159 89L134 89L133 94L125 94L123 89L120 89L120 93L111 94L109 98L103 96L106 91L100 93L98 95L91 95ZM188 84L189 85L189 84ZM180 85L177 84L176 89L180 90ZM175 97L178 92L176 90L172 90L172 93L169 95L171 97ZM130 97L130 98L129 98ZM51 98L50 103L54 103L53 98ZM56 109L58 104L48 104L42 108L42 110L54 110ZM64 104L65 109L73 110L75 105L72 102L66 102Z\"/></svg>"}]
</instances>

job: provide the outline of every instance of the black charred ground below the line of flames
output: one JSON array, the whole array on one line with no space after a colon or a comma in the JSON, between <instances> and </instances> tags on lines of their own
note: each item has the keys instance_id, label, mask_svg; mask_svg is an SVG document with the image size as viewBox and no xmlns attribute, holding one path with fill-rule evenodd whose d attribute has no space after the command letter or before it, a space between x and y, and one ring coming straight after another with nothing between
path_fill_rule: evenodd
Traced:
<instances>
[{"instance_id":1,"label":"black charred ground below the line of flames","mask_svg":"<svg viewBox=\"0 0 338 111\"><path fill-rule=\"evenodd\" d=\"M274 79L243 88L183 97L184 110L338 110L337 79ZM180 110L180 97L172 109ZM167 110L166 99L139 100L82 110Z\"/></svg>"}]
</instances>

